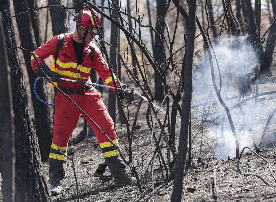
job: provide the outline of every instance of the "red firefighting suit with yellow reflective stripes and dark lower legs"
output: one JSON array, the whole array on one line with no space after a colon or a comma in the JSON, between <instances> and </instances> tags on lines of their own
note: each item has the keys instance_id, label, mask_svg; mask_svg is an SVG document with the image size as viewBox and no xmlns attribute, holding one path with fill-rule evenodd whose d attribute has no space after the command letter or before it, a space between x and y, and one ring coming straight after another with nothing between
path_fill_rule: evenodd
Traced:
<instances>
[{"instance_id":1,"label":"red firefighting suit with yellow reflective stripes and dark lower legs","mask_svg":"<svg viewBox=\"0 0 276 202\"><path fill-rule=\"evenodd\" d=\"M63 78L87 81L90 77L90 70L94 68L103 81L114 86L109 68L102 57L99 48L95 48L93 59L89 57L89 44L86 44L83 50L82 63L78 64L78 60L74 51L72 42L72 34L67 33L64 42L59 51L55 72L59 73ZM48 42L37 48L34 53L39 63L50 55L55 55L56 45L59 37L54 36ZM38 66L33 56L31 57L31 66L35 71ZM114 76L116 78L116 76ZM116 79L116 85L119 80ZM84 88L85 85L63 81L57 83L59 86L68 88ZM102 100L102 95L95 88L86 91L83 95L67 94L74 102L81 107L93 121L107 134L107 136L118 145L117 135L114 129L114 123L111 119L106 106ZM55 97L55 118L54 118L54 135L52 146L50 149L49 177L54 180L62 180L66 173L66 157L61 155L57 146L61 151L67 152L67 144L73 130L76 128L80 116L80 110L63 94L57 92ZM85 116L84 116L85 117ZM86 117L85 117L86 118ZM106 137L95 127L91 121L86 118L87 122L93 128L99 145L102 149L105 161L110 169L112 177L117 177L126 173L126 165L119 155L117 147L113 146Z\"/></svg>"}]
</instances>

